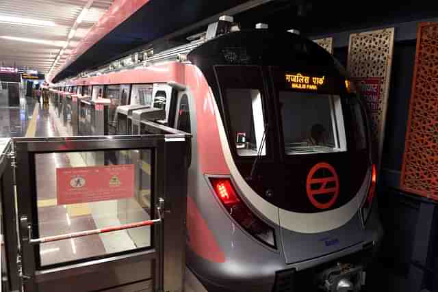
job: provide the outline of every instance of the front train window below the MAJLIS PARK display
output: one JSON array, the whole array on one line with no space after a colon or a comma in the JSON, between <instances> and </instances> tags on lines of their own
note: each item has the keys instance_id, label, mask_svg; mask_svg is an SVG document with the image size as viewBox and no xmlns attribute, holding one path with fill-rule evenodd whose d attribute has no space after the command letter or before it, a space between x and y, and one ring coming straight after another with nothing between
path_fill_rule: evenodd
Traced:
<instances>
[{"instance_id":1,"label":"front train window below the MAJLIS PARK display","mask_svg":"<svg viewBox=\"0 0 438 292\"><path fill-rule=\"evenodd\" d=\"M334 152L342 149L339 129L344 122L339 96L309 92L279 92L287 155ZM343 137L345 135L342 135Z\"/></svg>"}]
</instances>

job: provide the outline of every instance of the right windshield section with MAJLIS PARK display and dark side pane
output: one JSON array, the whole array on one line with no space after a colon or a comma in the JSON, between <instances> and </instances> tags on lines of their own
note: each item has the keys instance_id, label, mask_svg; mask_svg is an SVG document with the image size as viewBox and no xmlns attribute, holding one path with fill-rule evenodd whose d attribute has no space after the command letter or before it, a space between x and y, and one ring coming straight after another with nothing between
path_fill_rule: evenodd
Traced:
<instances>
[{"instance_id":1,"label":"right windshield section with MAJLIS PARK display and dark side pane","mask_svg":"<svg viewBox=\"0 0 438 292\"><path fill-rule=\"evenodd\" d=\"M348 94L344 88L346 79L278 66L271 66L269 71L281 144L287 157L368 150L366 110L359 96ZM295 114L285 118L286 108ZM291 116L292 121L288 119ZM290 127L291 124L299 126ZM298 142L291 147L291 140L295 142L291 139L294 133Z\"/></svg>"}]
</instances>

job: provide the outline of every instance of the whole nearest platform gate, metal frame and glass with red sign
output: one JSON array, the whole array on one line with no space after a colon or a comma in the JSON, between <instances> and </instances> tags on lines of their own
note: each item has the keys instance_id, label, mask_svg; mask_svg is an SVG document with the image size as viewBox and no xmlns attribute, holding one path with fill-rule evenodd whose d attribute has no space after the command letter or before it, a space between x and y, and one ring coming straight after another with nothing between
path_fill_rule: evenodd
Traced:
<instances>
[{"instance_id":1,"label":"whole nearest platform gate, metal frame and glass with red sign","mask_svg":"<svg viewBox=\"0 0 438 292\"><path fill-rule=\"evenodd\" d=\"M183 291L190 135L167 130L0 140L4 291Z\"/></svg>"}]
</instances>

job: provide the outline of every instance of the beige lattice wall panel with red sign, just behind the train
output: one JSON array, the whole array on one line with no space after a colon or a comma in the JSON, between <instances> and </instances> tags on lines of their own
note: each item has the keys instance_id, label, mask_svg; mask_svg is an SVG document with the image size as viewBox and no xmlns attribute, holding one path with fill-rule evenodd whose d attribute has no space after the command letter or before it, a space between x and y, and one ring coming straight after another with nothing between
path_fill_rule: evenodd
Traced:
<instances>
[{"instance_id":1,"label":"beige lattice wall panel with red sign, just behind the train","mask_svg":"<svg viewBox=\"0 0 438 292\"><path fill-rule=\"evenodd\" d=\"M393 48L394 28L350 35L347 70L371 111L372 139L378 147L378 165L385 135Z\"/></svg>"}]
</instances>

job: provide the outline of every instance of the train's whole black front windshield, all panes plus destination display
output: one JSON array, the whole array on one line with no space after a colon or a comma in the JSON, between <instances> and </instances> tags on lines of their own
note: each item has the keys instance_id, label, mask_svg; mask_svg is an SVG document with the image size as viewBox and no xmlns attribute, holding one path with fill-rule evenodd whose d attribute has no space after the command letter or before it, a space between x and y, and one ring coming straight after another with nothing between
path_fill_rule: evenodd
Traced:
<instances>
[{"instance_id":1,"label":"train's whole black front windshield, all panes plus destination display","mask_svg":"<svg viewBox=\"0 0 438 292\"><path fill-rule=\"evenodd\" d=\"M333 77L278 67L270 67L270 73L260 66L214 68L235 155L269 155L268 146L277 143L287 156L346 152L347 145L350 150L366 148L361 106L356 98L341 97ZM269 85L270 98L265 90ZM280 141L267 131L274 119L281 127Z\"/></svg>"}]
</instances>

